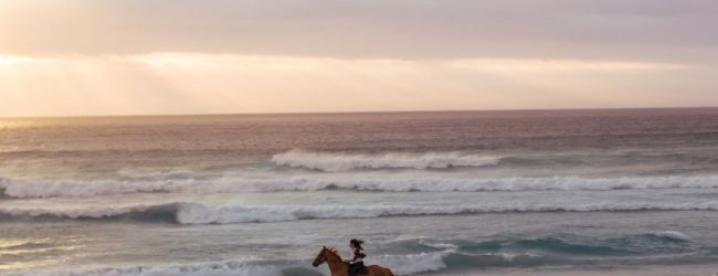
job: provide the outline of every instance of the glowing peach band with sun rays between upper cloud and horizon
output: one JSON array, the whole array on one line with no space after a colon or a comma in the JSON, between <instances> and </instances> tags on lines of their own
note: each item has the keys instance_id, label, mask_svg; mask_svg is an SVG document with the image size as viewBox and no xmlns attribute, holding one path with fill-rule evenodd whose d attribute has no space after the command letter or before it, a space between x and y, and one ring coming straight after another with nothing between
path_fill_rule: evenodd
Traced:
<instances>
[{"instance_id":1,"label":"glowing peach band with sun rays between upper cloud and horizon","mask_svg":"<svg viewBox=\"0 0 718 276\"><path fill-rule=\"evenodd\" d=\"M718 105L715 68L635 61L0 56L0 116Z\"/></svg>"}]
</instances>

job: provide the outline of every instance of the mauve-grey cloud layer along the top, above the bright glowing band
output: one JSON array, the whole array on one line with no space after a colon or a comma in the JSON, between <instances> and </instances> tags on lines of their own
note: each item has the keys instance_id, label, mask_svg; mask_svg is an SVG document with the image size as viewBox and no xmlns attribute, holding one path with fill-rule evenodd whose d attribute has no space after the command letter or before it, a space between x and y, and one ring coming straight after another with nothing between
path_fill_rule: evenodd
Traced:
<instances>
[{"instance_id":1,"label":"mauve-grey cloud layer along the top, above the bright glowing band","mask_svg":"<svg viewBox=\"0 0 718 276\"><path fill-rule=\"evenodd\" d=\"M0 53L716 61L712 0L0 1Z\"/></svg>"}]
</instances>

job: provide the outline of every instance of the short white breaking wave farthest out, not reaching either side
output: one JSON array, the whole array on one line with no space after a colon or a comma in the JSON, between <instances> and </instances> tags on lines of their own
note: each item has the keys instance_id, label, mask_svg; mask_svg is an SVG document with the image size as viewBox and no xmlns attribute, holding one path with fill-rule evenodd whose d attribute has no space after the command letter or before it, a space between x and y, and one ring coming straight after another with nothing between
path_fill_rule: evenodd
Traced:
<instances>
[{"instance_id":1,"label":"short white breaking wave farthest out, not reaching either side","mask_svg":"<svg viewBox=\"0 0 718 276\"><path fill-rule=\"evenodd\" d=\"M305 168L320 171L348 171L353 169L445 169L451 167L495 166L500 158L462 152L381 155L330 153L291 150L275 155L272 161L277 166Z\"/></svg>"}]
</instances>

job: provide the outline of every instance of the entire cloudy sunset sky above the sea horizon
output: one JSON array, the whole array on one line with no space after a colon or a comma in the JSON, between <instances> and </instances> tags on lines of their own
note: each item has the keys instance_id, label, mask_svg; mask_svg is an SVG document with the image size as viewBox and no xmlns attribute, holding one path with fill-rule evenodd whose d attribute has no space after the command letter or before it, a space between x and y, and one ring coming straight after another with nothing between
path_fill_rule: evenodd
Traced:
<instances>
[{"instance_id":1,"label":"entire cloudy sunset sky above the sea horizon","mask_svg":"<svg viewBox=\"0 0 718 276\"><path fill-rule=\"evenodd\" d=\"M0 0L0 116L718 106L716 0Z\"/></svg>"}]
</instances>

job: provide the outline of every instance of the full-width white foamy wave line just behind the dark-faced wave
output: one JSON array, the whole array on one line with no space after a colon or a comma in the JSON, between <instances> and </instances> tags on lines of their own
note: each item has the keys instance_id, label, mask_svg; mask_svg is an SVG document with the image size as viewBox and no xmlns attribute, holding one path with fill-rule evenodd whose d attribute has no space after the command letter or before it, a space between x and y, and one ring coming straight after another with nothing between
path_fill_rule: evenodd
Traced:
<instances>
[{"instance_id":1,"label":"full-width white foamy wave line just behind the dark-faced wave","mask_svg":"<svg viewBox=\"0 0 718 276\"><path fill-rule=\"evenodd\" d=\"M11 198L94 197L128 193L244 193L319 190L376 192L610 191L716 189L718 176L616 178L468 178L414 174L352 174L214 179L205 181L2 181Z\"/></svg>"}]
</instances>

